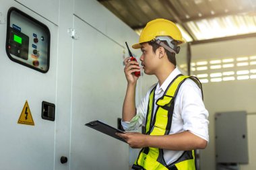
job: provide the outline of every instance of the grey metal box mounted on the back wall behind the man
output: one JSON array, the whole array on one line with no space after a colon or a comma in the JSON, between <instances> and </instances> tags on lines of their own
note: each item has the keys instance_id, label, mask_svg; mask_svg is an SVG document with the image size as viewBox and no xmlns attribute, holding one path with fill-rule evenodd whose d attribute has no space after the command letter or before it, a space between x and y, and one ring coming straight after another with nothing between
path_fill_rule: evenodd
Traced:
<instances>
[{"instance_id":1,"label":"grey metal box mounted on the back wall behind the man","mask_svg":"<svg viewBox=\"0 0 256 170\"><path fill-rule=\"evenodd\" d=\"M216 163L248 163L246 112L215 115Z\"/></svg>"}]
</instances>

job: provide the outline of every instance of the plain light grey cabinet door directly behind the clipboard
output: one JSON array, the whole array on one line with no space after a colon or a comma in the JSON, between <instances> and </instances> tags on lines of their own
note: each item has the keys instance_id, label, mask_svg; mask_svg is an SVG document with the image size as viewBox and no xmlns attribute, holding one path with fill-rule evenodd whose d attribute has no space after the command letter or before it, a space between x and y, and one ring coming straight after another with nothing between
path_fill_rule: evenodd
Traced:
<instances>
[{"instance_id":1,"label":"plain light grey cabinet door directly behind the clipboard","mask_svg":"<svg viewBox=\"0 0 256 170\"><path fill-rule=\"evenodd\" d=\"M84 126L102 120L117 127L127 86L124 49L77 17L74 25L70 169L128 169L125 142Z\"/></svg>"}]
</instances>

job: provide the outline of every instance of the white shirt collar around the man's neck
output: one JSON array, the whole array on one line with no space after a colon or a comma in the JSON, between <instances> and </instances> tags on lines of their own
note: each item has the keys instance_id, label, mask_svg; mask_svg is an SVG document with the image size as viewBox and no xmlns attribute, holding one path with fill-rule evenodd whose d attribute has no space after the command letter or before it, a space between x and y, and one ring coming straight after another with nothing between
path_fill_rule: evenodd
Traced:
<instances>
[{"instance_id":1,"label":"white shirt collar around the man's neck","mask_svg":"<svg viewBox=\"0 0 256 170\"><path fill-rule=\"evenodd\" d=\"M177 75L180 75L181 74L181 71L179 71L179 69L176 67L172 73L170 73L170 75L168 75L167 79L164 81L164 83L162 83L162 85L160 86L159 85L159 82L158 82L158 85L156 86L156 91L155 93L156 94L159 94L161 93L162 91L166 91L168 85L170 84L170 82L172 82L172 80L177 77Z\"/></svg>"}]
</instances>

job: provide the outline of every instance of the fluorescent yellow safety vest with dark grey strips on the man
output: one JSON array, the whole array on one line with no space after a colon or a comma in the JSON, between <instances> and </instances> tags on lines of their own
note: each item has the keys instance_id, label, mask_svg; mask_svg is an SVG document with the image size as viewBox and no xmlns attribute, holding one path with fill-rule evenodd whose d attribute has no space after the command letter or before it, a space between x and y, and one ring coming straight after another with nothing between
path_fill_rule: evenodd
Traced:
<instances>
[{"instance_id":1,"label":"fluorescent yellow safety vest with dark grey strips on the man","mask_svg":"<svg viewBox=\"0 0 256 170\"><path fill-rule=\"evenodd\" d=\"M154 92L156 87L152 89L146 116L146 134L169 134L172 124L174 100L179 91L179 87L181 87L181 84L187 78L192 79L201 89L201 83L196 77L177 75L170 85L168 85L164 95L156 101L157 108L154 118ZM184 151L183 155L181 155L177 161L170 165L166 165L163 150L161 148L146 147L141 149L132 168L146 170L195 170L195 153L194 151Z\"/></svg>"}]
</instances>

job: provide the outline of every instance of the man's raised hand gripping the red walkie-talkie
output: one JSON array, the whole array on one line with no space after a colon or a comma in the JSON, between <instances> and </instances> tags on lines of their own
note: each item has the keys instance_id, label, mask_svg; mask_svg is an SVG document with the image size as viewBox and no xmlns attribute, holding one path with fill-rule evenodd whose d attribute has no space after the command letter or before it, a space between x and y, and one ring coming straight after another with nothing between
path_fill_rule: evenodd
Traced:
<instances>
[{"instance_id":1,"label":"man's raised hand gripping the red walkie-talkie","mask_svg":"<svg viewBox=\"0 0 256 170\"><path fill-rule=\"evenodd\" d=\"M125 77L128 83L136 83L139 77L136 77L134 75L134 72L140 71L139 62L135 60L131 60L131 57L127 57L125 58L123 63L125 64L124 71L125 71Z\"/></svg>"}]
</instances>

